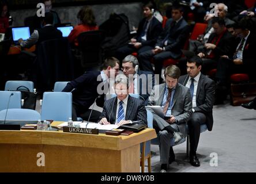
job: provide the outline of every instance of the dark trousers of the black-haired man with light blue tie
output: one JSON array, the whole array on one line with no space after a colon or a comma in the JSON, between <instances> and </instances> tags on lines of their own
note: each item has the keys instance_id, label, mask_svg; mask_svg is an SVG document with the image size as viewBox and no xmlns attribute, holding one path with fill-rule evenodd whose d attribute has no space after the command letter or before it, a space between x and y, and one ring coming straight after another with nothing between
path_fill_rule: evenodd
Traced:
<instances>
[{"instance_id":1,"label":"dark trousers of the black-haired man with light blue tie","mask_svg":"<svg viewBox=\"0 0 256 184\"><path fill-rule=\"evenodd\" d=\"M195 112L187 123L189 125L190 138L190 155L194 155L197 151L197 146L200 137L200 126L205 124L206 116L203 113Z\"/></svg>"}]
</instances>

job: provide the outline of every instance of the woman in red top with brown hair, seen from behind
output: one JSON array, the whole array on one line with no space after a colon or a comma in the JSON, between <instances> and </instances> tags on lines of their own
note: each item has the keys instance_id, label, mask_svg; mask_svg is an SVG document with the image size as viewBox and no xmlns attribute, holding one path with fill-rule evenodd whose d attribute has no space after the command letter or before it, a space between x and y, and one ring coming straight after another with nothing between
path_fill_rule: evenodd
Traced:
<instances>
[{"instance_id":1,"label":"woman in red top with brown hair, seen from behind","mask_svg":"<svg viewBox=\"0 0 256 184\"><path fill-rule=\"evenodd\" d=\"M74 44L75 46L78 46L77 37L80 33L99 29L95 22L95 16L91 7L82 7L82 9L77 14L77 18L79 20L78 25L74 27L74 29L67 37L69 39L69 42Z\"/></svg>"}]
</instances>

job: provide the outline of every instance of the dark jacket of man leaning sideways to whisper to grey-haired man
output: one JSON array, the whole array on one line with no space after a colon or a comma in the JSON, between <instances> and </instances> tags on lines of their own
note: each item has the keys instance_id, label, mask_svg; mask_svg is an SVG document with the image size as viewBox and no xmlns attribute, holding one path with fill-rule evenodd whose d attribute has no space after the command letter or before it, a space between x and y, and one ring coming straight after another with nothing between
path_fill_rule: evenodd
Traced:
<instances>
[{"instance_id":1,"label":"dark jacket of man leaning sideways to whisper to grey-haired man","mask_svg":"<svg viewBox=\"0 0 256 184\"><path fill-rule=\"evenodd\" d=\"M87 110L98 97L97 87L101 82L100 71L87 71L77 79L67 83L62 91L72 91L73 102L80 106L81 110Z\"/></svg>"}]
</instances>

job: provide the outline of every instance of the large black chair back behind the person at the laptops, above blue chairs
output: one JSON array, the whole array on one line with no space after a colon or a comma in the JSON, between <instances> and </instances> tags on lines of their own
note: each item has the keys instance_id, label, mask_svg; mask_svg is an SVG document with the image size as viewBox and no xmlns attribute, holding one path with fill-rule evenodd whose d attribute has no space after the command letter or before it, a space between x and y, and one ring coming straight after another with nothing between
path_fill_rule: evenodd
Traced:
<instances>
[{"instance_id":1,"label":"large black chair back behind the person at the laptops, above blue chairs","mask_svg":"<svg viewBox=\"0 0 256 184\"><path fill-rule=\"evenodd\" d=\"M37 45L37 91L54 88L57 81L74 79L74 63L71 48L67 39L43 41Z\"/></svg>"}]
</instances>

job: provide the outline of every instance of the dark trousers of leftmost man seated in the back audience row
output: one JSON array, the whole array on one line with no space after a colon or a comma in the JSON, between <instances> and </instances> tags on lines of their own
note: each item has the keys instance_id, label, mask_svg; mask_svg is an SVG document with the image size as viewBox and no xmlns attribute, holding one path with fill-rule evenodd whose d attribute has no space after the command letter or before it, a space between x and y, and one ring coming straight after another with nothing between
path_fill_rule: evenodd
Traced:
<instances>
[{"instance_id":1,"label":"dark trousers of leftmost man seated in the back audience row","mask_svg":"<svg viewBox=\"0 0 256 184\"><path fill-rule=\"evenodd\" d=\"M133 45L125 45L116 50L115 56L119 60L120 66L122 67L122 60L125 59L127 55L130 55L133 52L137 52L138 55L140 55L140 53L148 51L149 49L152 49L152 47L142 46L137 49Z\"/></svg>"}]
</instances>

